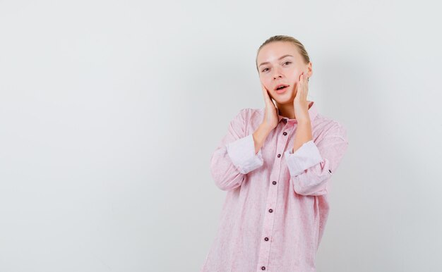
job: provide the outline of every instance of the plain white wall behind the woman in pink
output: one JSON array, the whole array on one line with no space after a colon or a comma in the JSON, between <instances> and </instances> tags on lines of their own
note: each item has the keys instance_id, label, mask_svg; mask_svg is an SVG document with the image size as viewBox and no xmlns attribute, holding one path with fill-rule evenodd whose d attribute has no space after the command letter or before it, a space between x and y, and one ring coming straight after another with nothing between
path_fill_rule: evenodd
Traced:
<instances>
[{"instance_id":1,"label":"plain white wall behind the woman in pink","mask_svg":"<svg viewBox=\"0 0 442 272\"><path fill-rule=\"evenodd\" d=\"M199 271L225 198L209 159L264 106L273 35L348 130L318 271L440 271L436 3L0 1L0 271Z\"/></svg>"}]
</instances>

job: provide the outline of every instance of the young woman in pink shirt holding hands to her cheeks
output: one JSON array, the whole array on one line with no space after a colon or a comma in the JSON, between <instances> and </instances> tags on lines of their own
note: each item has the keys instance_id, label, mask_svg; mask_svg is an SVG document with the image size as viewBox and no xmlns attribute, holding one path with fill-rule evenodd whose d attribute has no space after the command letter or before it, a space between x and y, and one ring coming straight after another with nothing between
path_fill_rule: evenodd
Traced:
<instances>
[{"instance_id":1,"label":"young woman in pink shirt holding hands to her cheeks","mask_svg":"<svg viewBox=\"0 0 442 272\"><path fill-rule=\"evenodd\" d=\"M297 39L270 37L256 68L265 109L241 109L210 159L227 196L201 271L314 272L347 132L306 100L313 70Z\"/></svg>"}]
</instances>

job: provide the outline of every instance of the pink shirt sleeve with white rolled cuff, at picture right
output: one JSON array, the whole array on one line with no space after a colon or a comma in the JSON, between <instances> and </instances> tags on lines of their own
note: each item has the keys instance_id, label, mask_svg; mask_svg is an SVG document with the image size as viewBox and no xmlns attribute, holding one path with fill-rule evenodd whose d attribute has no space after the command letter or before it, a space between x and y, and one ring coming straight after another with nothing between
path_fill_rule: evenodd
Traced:
<instances>
[{"instance_id":1,"label":"pink shirt sleeve with white rolled cuff, at picture right","mask_svg":"<svg viewBox=\"0 0 442 272\"><path fill-rule=\"evenodd\" d=\"M347 147L347 130L336 122L320 141L311 140L295 152L284 152L294 191L303 195L327 194L330 178Z\"/></svg>"}]
</instances>

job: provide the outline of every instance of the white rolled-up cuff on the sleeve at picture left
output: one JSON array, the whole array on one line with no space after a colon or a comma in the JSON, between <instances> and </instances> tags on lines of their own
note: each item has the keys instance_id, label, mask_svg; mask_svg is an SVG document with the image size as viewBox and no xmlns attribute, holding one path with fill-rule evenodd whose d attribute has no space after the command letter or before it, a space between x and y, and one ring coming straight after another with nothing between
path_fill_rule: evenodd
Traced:
<instances>
[{"instance_id":1,"label":"white rolled-up cuff on the sleeve at picture left","mask_svg":"<svg viewBox=\"0 0 442 272\"><path fill-rule=\"evenodd\" d=\"M253 134L239 138L234 142L230 142L229 144L226 144L226 147L227 154L229 154L234 166L238 168L239 173L249 173L262 166L264 163L261 149L259 149L258 154L255 154Z\"/></svg>"}]
</instances>

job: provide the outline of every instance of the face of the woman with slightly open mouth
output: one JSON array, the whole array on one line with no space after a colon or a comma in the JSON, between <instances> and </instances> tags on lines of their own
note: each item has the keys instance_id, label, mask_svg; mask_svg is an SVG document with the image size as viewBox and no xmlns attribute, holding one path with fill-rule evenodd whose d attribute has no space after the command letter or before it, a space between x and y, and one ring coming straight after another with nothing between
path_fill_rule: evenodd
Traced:
<instances>
[{"instance_id":1,"label":"face of the woman with slightly open mouth","mask_svg":"<svg viewBox=\"0 0 442 272\"><path fill-rule=\"evenodd\" d=\"M304 63L297 47L290 42L271 42L266 44L257 56L258 72L261 83L268 89L270 98L279 104L293 103L297 92L299 75L304 72L308 78L313 73L311 62ZM277 93L277 85L289 85L285 92Z\"/></svg>"}]
</instances>

